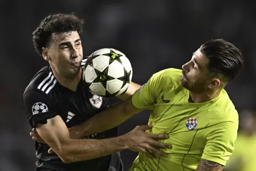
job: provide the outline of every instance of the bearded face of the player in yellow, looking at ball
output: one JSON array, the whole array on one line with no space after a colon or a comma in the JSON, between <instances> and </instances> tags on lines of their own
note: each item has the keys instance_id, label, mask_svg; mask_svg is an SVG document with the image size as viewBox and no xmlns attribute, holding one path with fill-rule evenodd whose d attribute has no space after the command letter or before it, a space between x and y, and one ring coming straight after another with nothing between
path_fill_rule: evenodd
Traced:
<instances>
[{"instance_id":1,"label":"bearded face of the player in yellow, looking at ball","mask_svg":"<svg viewBox=\"0 0 256 171\"><path fill-rule=\"evenodd\" d=\"M207 70L206 58L198 49L189 62L182 65L182 76L180 82L182 86L191 92L203 93L209 89L211 82L210 73Z\"/></svg>"}]
</instances>

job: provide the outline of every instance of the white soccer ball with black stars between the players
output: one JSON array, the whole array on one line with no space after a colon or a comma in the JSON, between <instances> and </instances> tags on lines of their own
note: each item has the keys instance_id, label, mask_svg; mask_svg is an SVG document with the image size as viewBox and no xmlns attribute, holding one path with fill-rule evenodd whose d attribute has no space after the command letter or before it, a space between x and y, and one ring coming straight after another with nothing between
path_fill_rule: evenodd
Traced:
<instances>
[{"instance_id":1,"label":"white soccer ball with black stars between the players","mask_svg":"<svg viewBox=\"0 0 256 171\"><path fill-rule=\"evenodd\" d=\"M122 52L112 48L99 49L87 59L83 80L95 95L119 96L129 87L132 80L132 66Z\"/></svg>"}]
</instances>

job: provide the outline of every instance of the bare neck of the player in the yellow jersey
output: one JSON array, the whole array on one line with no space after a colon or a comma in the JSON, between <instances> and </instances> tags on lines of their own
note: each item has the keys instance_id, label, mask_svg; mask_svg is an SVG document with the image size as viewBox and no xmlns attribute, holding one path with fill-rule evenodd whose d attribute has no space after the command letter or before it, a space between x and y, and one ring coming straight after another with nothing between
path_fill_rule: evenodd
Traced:
<instances>
[{"instance_id":1,"label":"bare neck of the player in the yellow jersey","mask_svg":"<svg viewBox=\"0 0 256 171\"><path fill-rule=\"evenodd\" d=\"M207 93L194 93L189 91L189 102L207 102L210 101L220 95L221 90L215 90L213 92L207 92Z\"/></svg>"}]
</instances>

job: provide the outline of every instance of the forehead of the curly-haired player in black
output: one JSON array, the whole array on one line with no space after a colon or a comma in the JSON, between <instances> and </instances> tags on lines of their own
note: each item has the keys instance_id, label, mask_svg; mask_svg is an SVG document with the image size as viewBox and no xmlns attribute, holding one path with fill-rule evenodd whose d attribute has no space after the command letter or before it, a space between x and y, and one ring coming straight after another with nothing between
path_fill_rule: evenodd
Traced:
<instances>
[{"instance_id":1,"label":"forehead of the curly-haired player in black","mask_svg":"<svg viewBox=\"0 0 256 171\"><path fill-rule=\"evenodd\" d=\"M79 39L79 35L77 31L67 31L67 32L61 32L61 33L52 33L52 40L60 44L61 42L65 41L75 41Z\"/></svg>"}]
</instances>

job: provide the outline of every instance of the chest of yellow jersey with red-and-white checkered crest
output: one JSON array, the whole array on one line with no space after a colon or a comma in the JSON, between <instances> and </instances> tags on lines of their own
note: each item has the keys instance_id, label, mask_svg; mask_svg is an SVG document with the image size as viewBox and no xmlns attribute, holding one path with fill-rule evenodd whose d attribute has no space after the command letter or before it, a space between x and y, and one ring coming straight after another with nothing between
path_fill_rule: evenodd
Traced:
<instances>
[{"instance_id":1,"label":"chest of yellow jersey with red-and-white checkered crest","mask_svg":"<svg viewBox=\"0 0 256 171\"><path fill-rule=\"evenodd\" d=\"M167 141L187 147L193 139L205 141L202 130L209 124L209 108L187 106L185 100L187 96L184 92L159 96L150 114L149 124L153 125L153 133L168 134L170 139Z\"/></svg>"}]
</instances>

